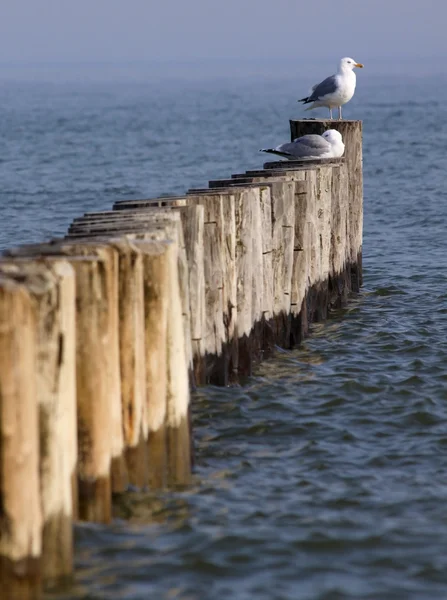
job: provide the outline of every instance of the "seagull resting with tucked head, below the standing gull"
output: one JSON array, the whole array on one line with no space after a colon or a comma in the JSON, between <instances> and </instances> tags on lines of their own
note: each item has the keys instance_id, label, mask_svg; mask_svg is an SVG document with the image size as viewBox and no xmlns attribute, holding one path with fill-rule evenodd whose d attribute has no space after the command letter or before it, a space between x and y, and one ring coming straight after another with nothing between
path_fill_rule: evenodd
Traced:
<instances>
[{"instance_id":1,"label":"seagull resting with tucked head, below the standing gull","mask_svg":"<svg viewBox=\"0 0 447 600\"><path fill-rule=\"evenodd\" d=\"M338 158L343 156L345 145L341 134L335 129L328 129L323 135L309 134L296 138L288 144L281 144L276 148L266 148L261 152L277 154L288 160L302 158Z\"/></svg>"}]
</instances>

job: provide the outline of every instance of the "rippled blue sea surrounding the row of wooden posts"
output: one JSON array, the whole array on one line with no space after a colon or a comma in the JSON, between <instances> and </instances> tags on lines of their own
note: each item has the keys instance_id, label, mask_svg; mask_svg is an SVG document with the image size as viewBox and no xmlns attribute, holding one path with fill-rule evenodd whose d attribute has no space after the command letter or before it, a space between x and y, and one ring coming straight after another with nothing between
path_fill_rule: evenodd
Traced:
<instances>
[{"instance_id":1,"label":"rippled blue sea surrounding the row of wooden posts","mask_svg":"<svg viewBox=\"0 0 447 600\"><path fill-rule=\"evenodd\" d=\"M312 73L244 68L0 69L0 247L260 167L289 118L326 116L296 103ZM199 389L193 485L76 526L48 600L447 598L446 96L447 76L358 73L361 293L243 385Z\"/></svg>"}]
</instances>

